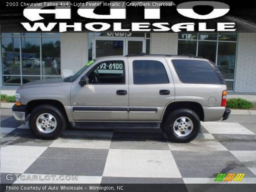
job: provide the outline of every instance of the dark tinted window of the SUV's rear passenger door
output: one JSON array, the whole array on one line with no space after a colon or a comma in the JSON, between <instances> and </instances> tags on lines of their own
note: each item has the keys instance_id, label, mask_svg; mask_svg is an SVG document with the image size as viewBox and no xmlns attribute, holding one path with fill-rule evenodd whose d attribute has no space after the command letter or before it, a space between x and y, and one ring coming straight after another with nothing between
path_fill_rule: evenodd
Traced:
<instances>
[{"instance_id":1,"label":"dark tinted window of the SUV's rear passenger door","mask_svg":"<svg viewBox=\"0 0 256 192\"><path fill-rule=\"evenodd\" d=\"M164 65L159 61L133 61L134 84L167 84L169 79Z\"/></svg>"}]
</instances>

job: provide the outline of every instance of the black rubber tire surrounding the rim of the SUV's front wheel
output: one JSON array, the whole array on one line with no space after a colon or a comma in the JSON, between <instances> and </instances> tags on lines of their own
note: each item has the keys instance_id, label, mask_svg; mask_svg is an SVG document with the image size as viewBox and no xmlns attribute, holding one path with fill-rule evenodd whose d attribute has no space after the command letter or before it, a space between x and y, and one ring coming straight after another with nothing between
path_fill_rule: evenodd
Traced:
<instances>
[{"instance_id":1,"label":"black rubber tire surrounding the rim of the SUV's front wheel","mask_svg":"<svg viewBox=\"0 0 256 192\"><path fill-rule=\"evenodd\" d=\"M40 131L36 126L37 118L44 113L49 113L56 119L56 128L50 133L44 133ZM61 135L62 131L66 128L66 120L64 118L64 115L58 108L51 105L40 105L34 108L29 116L28 122L30 130L32 130L32 132L34 132L36 136L45 140L58 138Z\"/></svg>"}]
</instances>

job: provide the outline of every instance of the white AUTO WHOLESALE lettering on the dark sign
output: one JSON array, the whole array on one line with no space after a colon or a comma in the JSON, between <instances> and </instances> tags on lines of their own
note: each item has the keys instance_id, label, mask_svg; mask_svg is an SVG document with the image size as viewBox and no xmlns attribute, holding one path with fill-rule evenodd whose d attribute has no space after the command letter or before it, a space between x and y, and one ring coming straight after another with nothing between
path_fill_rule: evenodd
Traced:
<instances>
[{"instance_id":1,"label":"white AUTO WHOLESALE lettering on the dark sign","mask_svg":"<svg viewBox=\"0 0 256 192\"><path fill-rule=\"evenodd\" d=\"M22 3L21 3L22 5ZM28 4L27 4L28 5ZM150 20L160 20L160 7L161 6L176 6L174 2L86 2L86 3L74 3L71 2L44 2L43 4L40 3L32 3L29 4L27 8L23 11L23 16L26 17L28 20L34 22L34 24L30 24L29 22L21 22L22 26L27 31L36 31L40 29L41 31L47 32L51 31L55 26L58 26L59 32L66 32L68 28L73 28L74 31L82 31L83 28L86 30L99 32L99 31L106 31L109 30L112 26L113 31L122 31L122 32L129 32L129 31L140 31L140 32L149 32L149 31L156 31L156 32L166 32L166 31L173 31L173 32L180 32L182 29L186 31L195 31L196 23L194 22L183 22L177 23L174 25L170 25L168 22L132 22L130 28L124 28L121 22L104 22L104 20L125 20L126 19L126 6L134 6L144 7L144 19ZM194 6L200 5L210 5L213 7L212 12L206 15L197 14L194 10ZM54 9L46 10L42 9L47 6L54 6ZM70 6L79 6L77 10L77 14L84 18L91 18L100 20L100 22L74 22L74 24L68 24L67 22L49 22L48 24L44 24L40 22L40 20L44 20L40 14L54 14L55 19L72 19L71 16L71 8ZM103 6L104 8L110 9L110 14L95 14L94 10L98 6ZM194 2L184 2L178 4L176 6L176 11L184 17L190 19L199 19L199 20L209 20L214 18L219 18L224 16L230 7L228 4L222 2L214 2L214 1L194 1ZM95 26L99 26L96 28ZM154 27L150 29L150 26ZM235 23L234 22L218 22L216 24L215 29L208 29L207 22L198 22L198 30L199 31L236 31Z\"/></svg>"}]
</instances>

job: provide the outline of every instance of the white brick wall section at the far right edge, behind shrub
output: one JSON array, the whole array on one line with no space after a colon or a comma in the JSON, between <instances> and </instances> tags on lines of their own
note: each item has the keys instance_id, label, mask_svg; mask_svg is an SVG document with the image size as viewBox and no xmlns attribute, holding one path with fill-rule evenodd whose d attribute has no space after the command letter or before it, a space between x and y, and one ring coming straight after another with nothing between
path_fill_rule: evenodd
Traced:
<instances>
[{"instance_id":1,"label":"white brick wall section at the far right edge, behind shrub","mask_svg":"<svg viewBox=\"0 0 256 192\"><path fill-rule=\"evenodd\" d=\"M238 33L235 92L256 92L256 33Z\"/></svg>"}]
</instances>

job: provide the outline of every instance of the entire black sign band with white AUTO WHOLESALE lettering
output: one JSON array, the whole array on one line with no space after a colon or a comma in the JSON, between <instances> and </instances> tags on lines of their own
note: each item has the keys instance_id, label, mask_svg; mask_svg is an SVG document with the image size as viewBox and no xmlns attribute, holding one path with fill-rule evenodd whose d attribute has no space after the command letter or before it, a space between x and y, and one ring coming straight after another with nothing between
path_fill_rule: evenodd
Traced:
<instances>
[{"instance_id":1,"label":"entire black sign band with white AUTO WHOLESALE lettering","mask_svg":"<svg viewBox=\"0 0 256 192\"><path fill-rule=\"evenodd\" d=\"M1 2L1 4L3 4ZM2 30L24 32L235 32L256 30L230 2L5 2ZM243 5L241 8L244 8ZM240 9L240 8L239 8ZM238 14L239 16L236 16ZM248 14L248 10L247 10ZM7 22L14 20L15 22ZM15 26L15 27L14 27Z\"/></svg>"}]
</instances>

